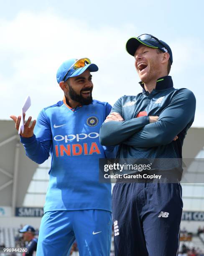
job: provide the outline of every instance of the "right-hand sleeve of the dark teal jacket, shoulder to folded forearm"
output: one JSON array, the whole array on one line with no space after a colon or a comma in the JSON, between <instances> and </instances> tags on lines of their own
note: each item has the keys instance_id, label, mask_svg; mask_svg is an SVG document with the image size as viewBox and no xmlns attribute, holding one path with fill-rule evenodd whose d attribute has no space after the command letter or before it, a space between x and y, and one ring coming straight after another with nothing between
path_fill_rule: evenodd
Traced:
<instances>
[{"instance_id":1,"label":"right-hand sleeve of the dark teal jacket, shoulder to folded forearm","mask_svg":"<svg viewBox=\"0 0 204 256\"><path fill-rule=\"evenodd\" d=\"M196 99L193 92L188 89L178 90L159 115L157 122L145 125L123 143L141 148L169 144L186 126L191 126L195 109Z\"/></svg>"}]
</instances>

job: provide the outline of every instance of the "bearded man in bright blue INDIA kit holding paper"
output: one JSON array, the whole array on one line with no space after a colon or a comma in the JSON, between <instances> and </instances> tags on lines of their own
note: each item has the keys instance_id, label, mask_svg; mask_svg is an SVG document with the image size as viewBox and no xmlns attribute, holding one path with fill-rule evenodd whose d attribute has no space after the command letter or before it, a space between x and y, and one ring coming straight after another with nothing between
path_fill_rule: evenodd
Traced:
<instances>
[{"instance_id":1,"label":"bearded man in bright blue INDIA kit holding paper","mask_svg":"<svg viewBox=\"0 0 204 256\"><path fill-rule=\"evenodd\" d=\"M75 239L80 256L110 255L111 184L99 183L98 161L114 157L114 147L99 143L111 106L92 100L90 72L97 70L87 58L61 64L56 78L64 100L44 108L32 124L29 117L20 133L30 159L41 164L51 154L38 256L66 256ZM18 130L20 116L11 118Z\"/></svg>"}]
</instances>

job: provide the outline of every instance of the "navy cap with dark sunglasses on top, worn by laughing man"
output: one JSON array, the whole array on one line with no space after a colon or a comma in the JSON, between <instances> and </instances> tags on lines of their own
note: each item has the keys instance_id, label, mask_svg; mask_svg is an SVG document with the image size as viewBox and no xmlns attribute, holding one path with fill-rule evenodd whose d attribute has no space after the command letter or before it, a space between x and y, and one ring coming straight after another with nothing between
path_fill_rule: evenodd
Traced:
<instances>
[{"instance_id":1,"label":"navy cap with dark sunglasses on top, worn by laughing man","mask_svg":"<svg viewBox=\"0 0 204 256\"><path fill-rule=\"evenodd\" d=\"M170 55L169 59L171 61L171 64L173 63L172 51L168 44L149 34L143 34L138 37L131 37L130 39L128 39L126 43L126 51L130 55L134 56L135 51L138 49L138 46L140 44L149 46L151 48L160 49L163 52L168 52L168 54Z\"/></svg>"}]
</instances>

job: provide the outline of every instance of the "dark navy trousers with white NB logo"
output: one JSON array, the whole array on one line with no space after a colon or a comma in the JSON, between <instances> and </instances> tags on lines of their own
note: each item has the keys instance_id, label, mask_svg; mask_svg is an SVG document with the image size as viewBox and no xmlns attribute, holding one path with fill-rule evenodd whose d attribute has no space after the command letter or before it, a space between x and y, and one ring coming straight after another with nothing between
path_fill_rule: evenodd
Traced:
<instances>
[{"instance_id":1,"label":"dark navy trousers with white NB logo","mask_svg":"<svg viewBox=\"0 0 204 256\"><path fill-rule=\"evenodd\" d=\"M177 256L183 202L179 183L116 183L115 256Z\"/></svg>"}]
</instances>

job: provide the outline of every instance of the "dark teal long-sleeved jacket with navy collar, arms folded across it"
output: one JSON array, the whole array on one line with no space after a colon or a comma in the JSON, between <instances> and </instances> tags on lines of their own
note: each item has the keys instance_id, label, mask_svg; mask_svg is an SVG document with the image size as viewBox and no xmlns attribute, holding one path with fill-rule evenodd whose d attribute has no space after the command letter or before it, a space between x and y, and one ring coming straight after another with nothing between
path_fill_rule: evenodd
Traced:
<instances>
[{"instance_id":1,"label":"dark teal long-sleeved jacket with navy collar, arms folded across it","mask_svg":"<svg viewBox=\"0 0 204 256\"><path fill-rule=\"evenodd\" d=\"M100 128L100 143L120 144L117 158L182 158L186 132L194 121L196 99L188 89L173 88L171 76L157 80L156 88L136 96L123 96L111 112L124 121L109 121ZM159 116L149 123L149 116ZM175 136L179 138L173 141Z\"/></svg>"}]
</instances>

